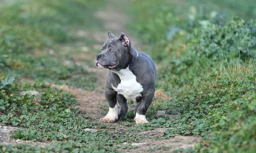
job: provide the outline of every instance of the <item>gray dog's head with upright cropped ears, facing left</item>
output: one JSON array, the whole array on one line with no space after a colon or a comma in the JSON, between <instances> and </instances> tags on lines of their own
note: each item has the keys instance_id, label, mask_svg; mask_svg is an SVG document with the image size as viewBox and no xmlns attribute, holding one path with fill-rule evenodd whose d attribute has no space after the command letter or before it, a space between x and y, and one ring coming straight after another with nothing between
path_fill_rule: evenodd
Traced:
<instances>
[{"instance_id":1,"label":"gray dog's head with upright cropped ears, facing left","mask_svg":"<svg viewBox=\"0 0 256 153\"><path fill-rule=\"evenodd\" d=\"M100 68L124 68L131 59L131 42L125 33L119 37L108 31L108 40L102 45L102 52L96 56Z\"/></svg>"}]
</instances>

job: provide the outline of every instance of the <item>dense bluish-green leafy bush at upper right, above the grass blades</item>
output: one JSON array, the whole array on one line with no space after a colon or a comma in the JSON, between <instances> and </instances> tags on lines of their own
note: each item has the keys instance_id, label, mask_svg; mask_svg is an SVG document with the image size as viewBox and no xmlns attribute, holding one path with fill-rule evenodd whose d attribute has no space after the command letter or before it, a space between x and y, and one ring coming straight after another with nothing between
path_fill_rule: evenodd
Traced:
<instances>
[{"instance_id":1,"label":"dense bluish-green leafy bush at upper right, above the grass blades","mask_svg":"<svg viewBox=\"0 0 256 153\"><path fill-rule=\"evenodd\" d=\"M246 23L236 17L225 26L209 24L201 29L196 29L188 41L192 43L189 54L212 60L225 59L225 55L227 60L234 57L246 60L256 55L256 22L253 20Z\"/></svg>"}]
</instances>

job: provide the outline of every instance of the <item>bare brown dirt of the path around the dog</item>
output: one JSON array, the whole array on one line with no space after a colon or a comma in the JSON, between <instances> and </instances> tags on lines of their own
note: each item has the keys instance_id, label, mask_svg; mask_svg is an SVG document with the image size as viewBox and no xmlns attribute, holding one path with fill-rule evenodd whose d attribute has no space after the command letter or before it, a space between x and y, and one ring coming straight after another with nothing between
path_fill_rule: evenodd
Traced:
<instances>
[{"instance_id":1,"label":"bare brown dirt of the path around the dog","mask_svg":"<svg viewBox=\"0 0 256 153\"><path fill-rule=\"evenodd\" d=\"M141 51L140 45L138 45L138 43L137 43L138 41L132 35L129 35L128 31L125 28L125 22L127 20L127 17L125 14L123 14L122 12L116 11L113 8L106 8L105 10L96 11L95 17L102 20L104 22L104 28L108 29L108 31L111 31L114 35L116 35L116 37L119 36L120 32L125 32L126 34L128 34L128 37L131 40L132 46L134 48L136 48L137 51ZM101 45L102 45L106 40L105 38L102 38L102 35L103 36L107 35L108 31L94 32L94 33L92 33L93 38L99 44L101 43ZM99 46L99 50L100 50L101 45L99 45L99 44L96 44L94 46ZM95 59L93 59L93 60L95 60ZM92 119L95 119L95 121L98 122L98 119L100 117L104 116L102 114L99 114L99 112L102 111L102 108L100 108L99 106L103 105L105 107L108 107L107 102L102 102L102 100L104 100L105 97L103 96L102 93L99 93L99 91L102 91L102 89L103 89L106 74L108 73L108 70L100 69L96 66L88 67L88 66L84 65L84 67L88 71L92 71L96 74L97 79L100 80L99 82L101 84L100 85L101 88L98 88L92 92L88 92L88 91L78 92L77 90L74 90L71 92L73 92L74 94L77 95L77 99L80 102L81 109L86 111L88 116L90 116ZM171 98L171 97L167 97L163 92L161 92L161 90L156 91L156 96L164 97L166 99ZM129 108L129 109L131 109L131 108ZM116 127L123 127L119 123L114 123L113 125ZM143 134L149 136L150 138L160 137L165 134L164 133L165 130L166 130L166 128L155 128L154 130L145 131L145 132L143 132ZM146 150L149 147L163 148L163 147L167 147L167 146L171 145L171 147L169 147L166 150L160 149L160 150L154 151L157 153L170 152L174 149L193 147L195 145L195 143L198 142L198 140L200 140L199 137L179 136L179 135L175 136L174 138L170 138L169 140L145 139L141 143L133 144L133 145L138 145L137 149L132 149L132 150L121 150L120 149L118 151L119 152L127 152L127 153L134 153L134 152L141 152L141 151L147 152ZM128 143L125 143L125 144L128 144Z\"/></svg>"}]
</instances>

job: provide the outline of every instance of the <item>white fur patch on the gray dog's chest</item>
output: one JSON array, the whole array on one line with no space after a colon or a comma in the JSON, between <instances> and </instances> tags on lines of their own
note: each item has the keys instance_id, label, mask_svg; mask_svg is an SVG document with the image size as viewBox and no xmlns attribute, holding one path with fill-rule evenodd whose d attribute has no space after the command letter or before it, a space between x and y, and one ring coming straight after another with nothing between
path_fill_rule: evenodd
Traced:
<instances>
[{"instance_id":1,"label":"white fur patch on the gray dog's chest","mask_svg":"<svg viewBox=\"0 0 256 153\"><path fill-rule=\"evenodd\" d=\"M122 94L125 96L125 99L128 101L136 102L136 97L141 96L140 93L143 91L143 87L136 81L136 76L132 73L132 71L129 70L129 66L120 71L111 71L116 73L121 79L121 82L117 85L117 87L112 85L114 91L116 91L117 94Z\"/></svg>"}]
</instances>

